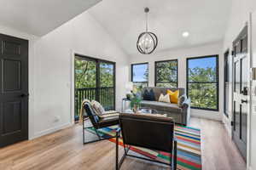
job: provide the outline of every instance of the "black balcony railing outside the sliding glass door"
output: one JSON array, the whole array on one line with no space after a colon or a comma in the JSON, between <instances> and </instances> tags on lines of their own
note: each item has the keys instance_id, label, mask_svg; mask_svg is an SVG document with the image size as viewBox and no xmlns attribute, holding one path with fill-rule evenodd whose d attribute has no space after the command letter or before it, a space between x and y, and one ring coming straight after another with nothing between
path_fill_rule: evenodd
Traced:
<instances>
[{"instance_id":1,"label":"black balcony railing outside the sliding glass door","mask_svg":"<svg viewBox=\"0 0 256 170\"><path fill-rule=\"evenodd\" d=\"M113 87L75 89L75 121L79 121L79 111L84 99L99 101L106 111L115 109Z\"/></svg>"}]
</instances>

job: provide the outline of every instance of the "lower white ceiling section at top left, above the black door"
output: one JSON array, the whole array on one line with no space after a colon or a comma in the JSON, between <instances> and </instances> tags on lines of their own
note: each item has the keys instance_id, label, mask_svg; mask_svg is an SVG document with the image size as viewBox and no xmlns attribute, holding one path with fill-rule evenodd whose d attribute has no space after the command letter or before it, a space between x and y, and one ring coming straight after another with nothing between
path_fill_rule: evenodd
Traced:
<instances>
[{"instance_id":1,"label":"lower white ceiling section at top left, above the black door","mask_svg":"<svg viewBox=\"0 0 256 170\"><path fill-rule=\"evenodd\" d=\"M43 36L101 0L0 0L0 24Z\"/></svg>"}]
</instances>

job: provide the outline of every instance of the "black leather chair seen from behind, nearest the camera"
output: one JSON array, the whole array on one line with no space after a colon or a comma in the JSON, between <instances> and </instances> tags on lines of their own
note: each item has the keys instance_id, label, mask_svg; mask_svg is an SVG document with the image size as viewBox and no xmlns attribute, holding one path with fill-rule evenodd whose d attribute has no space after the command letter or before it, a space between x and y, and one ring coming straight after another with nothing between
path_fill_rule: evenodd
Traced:
<instances>
[{"instance_id":1,"label":"black leather chair seen from behind, nearest the camera","mask_svg":"<svg viewBox=\"0 0 256 170\"><path fill-rule=\"evenodd\" d=\"M170 163L150 160L140 156L132 156L147 161L154 161L177 168L177 141L174 137L172 118L137 114L120 114L120 130L116 134L116 169L121 167L125 156L129 155L130 146L138 146L149 150L160 150L171 154ZM119 161L120 132L124 142L125 154Z\"/></svg>"}]
</instances>

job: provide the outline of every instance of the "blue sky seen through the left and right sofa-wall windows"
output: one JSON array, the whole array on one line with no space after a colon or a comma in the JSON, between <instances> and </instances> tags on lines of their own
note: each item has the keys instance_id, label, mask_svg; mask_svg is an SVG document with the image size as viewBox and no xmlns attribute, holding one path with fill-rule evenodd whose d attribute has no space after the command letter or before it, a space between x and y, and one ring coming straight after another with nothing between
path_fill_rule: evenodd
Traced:
<instances>
[{"instance_id":1,"label":"blue sky seen through the left and right sofa-wall windows","mask_svg":"<svg viewBox=\"0 0 256 170\"><path fill-rule=\"evenodd\" d=\"M189 68L195 68L197 66L201 68L215 67L216 57L189 59ZM147 64L133 65L133 72L136 73L135 76L133 76L133 82L147 82L147 80L144 79L144 72L147 69Z\"/></svg>"}]
</instances>

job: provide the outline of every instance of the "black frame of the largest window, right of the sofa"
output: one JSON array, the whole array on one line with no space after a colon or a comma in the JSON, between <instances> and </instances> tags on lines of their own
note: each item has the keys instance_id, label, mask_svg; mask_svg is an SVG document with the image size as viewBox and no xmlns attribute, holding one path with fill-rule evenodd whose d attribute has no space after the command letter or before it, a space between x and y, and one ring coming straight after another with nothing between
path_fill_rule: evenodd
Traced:
<instances>
[{"instance_id":1,"label":"black frame of the largest window, right of the sofa","mask_svg":"<svg viewBox=\"0 0 256 170\"><path fill-rule=\"evenodd\" d=\"M205 59L205 58L212 58L212 57L216 57L216 81L217 82L189 82L189 59ZM204 110L204 111L219 111L219 71L218 71L218 54L212 54L212 55L205 55L205 56L199 56L199 57L190 57L186 59L186 88L187 88L187 96L189 97L189 83L213 83L216 84L217 86L217 107L216 109L211 109L211 108L201 108L201 107L193 107L191 105L192 109L198 109L198 110Z\"/></svg>"}]
</instances>

